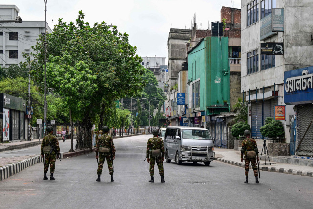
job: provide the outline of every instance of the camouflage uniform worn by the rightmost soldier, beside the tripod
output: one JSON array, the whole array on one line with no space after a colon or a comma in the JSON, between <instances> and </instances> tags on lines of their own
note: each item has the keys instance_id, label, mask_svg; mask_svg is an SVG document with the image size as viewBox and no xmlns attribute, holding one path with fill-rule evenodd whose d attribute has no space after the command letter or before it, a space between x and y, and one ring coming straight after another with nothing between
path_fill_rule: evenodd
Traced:
<instances>
[{"instance_id":1,"label":"camouflage uniform worn by the rightmost soldier, beside the tripod","mask_svg":"<svg viewBox=\"0 0 313 209\"><path fill-rule=\"evenodd\" d=\"M249 165L250 165L250 162L251 162L251 165L252 165L252 169L253 169L253 172L254 172L254 176L258 176L258 171L257 171L257 163L256 163L256 157L254 158L248 158L247 157L247 154L246 154L246 151L253 151L255 150L256 151L256 156L258 157L259 156L259 152L258 152L258 147L257 147L257 144L256 144L256 141L252 138L246 138L243 140L242 142L242 149L244 150L244 153L241 153L240 157L242 158L243 157L243 154L245 154L245 175L248 176L249 175Z\"/></svg>"}]
</instances>

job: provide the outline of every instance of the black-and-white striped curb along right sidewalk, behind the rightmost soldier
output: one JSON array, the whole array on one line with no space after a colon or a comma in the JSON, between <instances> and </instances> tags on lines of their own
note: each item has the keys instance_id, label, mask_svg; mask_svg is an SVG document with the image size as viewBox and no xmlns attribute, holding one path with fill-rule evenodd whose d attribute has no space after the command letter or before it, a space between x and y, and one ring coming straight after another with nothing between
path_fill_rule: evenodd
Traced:
<instances>
[{"instance_id":1,"label":"black-and-white striped curb along right sidewalk, behind the rightmost soldier","mask_svg":"<svg viewBox=\"0 0 313 209\"><path fill-rule=\"evenodd\" d=\"M218 161L223 163L232 164L238 167L245 167L245 163L238 163L235 161L229 161L225 159L218 158ZM252 169L251 165L249 166ZM276 172L276 173L285 173L285 174L292 174L292 175L299 175L299 176L311 176L313 177L313 172L306 172L302 170L293 170L293 169L286 169L286 168L276 168L276 167L268 167L268 166L260 166L260 170L262 171L269 171L269 172Z\"/></svg>"}]
</instances>

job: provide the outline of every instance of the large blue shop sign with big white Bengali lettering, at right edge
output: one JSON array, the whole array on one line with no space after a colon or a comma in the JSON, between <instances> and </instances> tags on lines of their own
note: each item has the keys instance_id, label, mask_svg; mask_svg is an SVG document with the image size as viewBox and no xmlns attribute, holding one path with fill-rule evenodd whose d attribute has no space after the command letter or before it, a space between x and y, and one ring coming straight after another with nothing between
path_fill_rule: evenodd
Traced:
<instances>
[{"instance_id":1,"label":"large blue shop sign with big white Bengali lettering, at right edge","mask_svg":"<svg viewBox=\"0 0 313 209\"><path fill-rule=\"evenodd\" d=\"M313 66L284 73L284 102L289 105L313 102Z\"/></svg>"}]
</instances>

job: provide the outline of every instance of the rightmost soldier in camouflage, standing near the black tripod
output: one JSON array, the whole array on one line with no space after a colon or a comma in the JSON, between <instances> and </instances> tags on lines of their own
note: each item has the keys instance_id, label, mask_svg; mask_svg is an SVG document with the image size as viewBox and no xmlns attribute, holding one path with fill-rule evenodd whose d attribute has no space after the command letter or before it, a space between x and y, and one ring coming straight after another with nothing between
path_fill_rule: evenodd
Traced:
<instances>
[{"instance_id":1,"label":"rightmost soldier in camouflage, standing near the black tripod","mask_svg":"<svg viewBox=\"0 0 313 209\"><path fill-rule=\"evenodd\" d=\"M257 147L256 141L252 138L250 138L250 131L249 130L245 130L244 131L244 136L246 137L246 139L243 140L242 142L242 148L241 148L241 155L240 155L240 160L241 162L243 162L243 155L245 154L245 175L246 175L246 181L245 183L249 183L248 181L248 175L249 175L249 165L251 162L252 165L252 169L254 172L254 176L255 176L255 183L259 183L258 180L258 171L257 171L257 162L259 161L259 149ZM247 156L247 151L255 151L255 155L254 157L248 157ZM256 158L255 158L256 156Z\"/></svg>"}]
</instances>

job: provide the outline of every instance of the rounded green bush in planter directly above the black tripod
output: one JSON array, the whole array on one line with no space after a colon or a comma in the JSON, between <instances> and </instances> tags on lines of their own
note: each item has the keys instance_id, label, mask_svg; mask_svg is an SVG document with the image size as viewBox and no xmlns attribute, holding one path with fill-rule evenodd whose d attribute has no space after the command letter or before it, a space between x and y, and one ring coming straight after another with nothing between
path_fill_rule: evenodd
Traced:
<instances>
[{"instance_id":1,"label":"rounded green bush in planter directly above the black tripod","mask_svg":"<svg viewBox=\"0 0 313 209\"><path fill-rule=\"evenodd\" d=\"M279 120L274 120L271 117L265 119L265 125L260 127L260 132L263 137L269 138L284 138L285 131L283 123Z\"/></svg>"}]
</instances>

